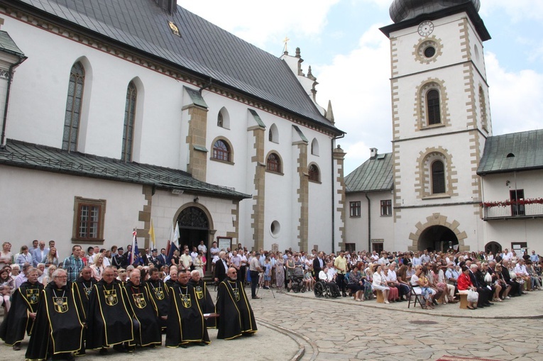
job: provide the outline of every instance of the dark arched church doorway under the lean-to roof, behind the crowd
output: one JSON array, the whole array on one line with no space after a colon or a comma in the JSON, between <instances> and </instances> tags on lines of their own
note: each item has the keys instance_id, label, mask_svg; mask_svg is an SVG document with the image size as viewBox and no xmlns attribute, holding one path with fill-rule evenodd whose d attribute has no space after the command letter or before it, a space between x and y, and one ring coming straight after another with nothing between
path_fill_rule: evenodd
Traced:
<instances>
[{"instance_id":1,"label":"dark arched church doorway under the lean-to roof, behind the crowd","mask_svg":"<svg viewBox=\"0 0 543 361\"><path fill-rule=\"evenodd\" d=\"M204 244L207 245L207 240L209 238L209 220L202 209L199 209L198 207L187 207L183 209L181 213L179 213L179 216L177 216L177 222L179 222L180 248L188 245L189 250L192 251L192 247L197 247L200 240L203 240ZM207 248L209 250L209 245L207 245Z\"/></svg>"}]
</instances>

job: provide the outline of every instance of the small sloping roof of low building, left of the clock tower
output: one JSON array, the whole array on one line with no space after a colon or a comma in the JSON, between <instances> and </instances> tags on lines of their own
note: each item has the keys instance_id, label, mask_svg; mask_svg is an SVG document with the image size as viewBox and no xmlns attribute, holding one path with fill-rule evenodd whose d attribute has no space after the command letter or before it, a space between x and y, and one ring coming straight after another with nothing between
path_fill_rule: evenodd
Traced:
<instances>
[{"instance_id":1,"label":"small sloping roof of low building, left of the clock tower","mask_svg":"<svg viewBox=\"0 0 543 361\"><path fill-rule=\"evenodd\" d=\"M392 153L370 158L345 177L347 193L393 189Z\"/></svg>"}]
</instances>

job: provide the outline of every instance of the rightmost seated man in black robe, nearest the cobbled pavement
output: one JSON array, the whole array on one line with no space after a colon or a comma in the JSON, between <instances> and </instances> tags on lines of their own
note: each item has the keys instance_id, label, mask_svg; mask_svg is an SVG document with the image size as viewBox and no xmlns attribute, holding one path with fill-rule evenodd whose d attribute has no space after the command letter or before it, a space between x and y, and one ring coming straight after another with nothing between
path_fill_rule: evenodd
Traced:
<instances>
[{"instance_id":1,"label":"rightmost seated man in black robe, nearest the cobbled pavement","mask_svg":"<svg viewBox=\"0 0 543 361\"><path fill-rule=\"evenodd\" d=\"M256 321L243 284L237 280L234 267L228 269L226 276L217 290L215 309L219 313L219 332L216 338L231 340L241 335L252 335L256 332Z\"/></svg>"}]
</instances>

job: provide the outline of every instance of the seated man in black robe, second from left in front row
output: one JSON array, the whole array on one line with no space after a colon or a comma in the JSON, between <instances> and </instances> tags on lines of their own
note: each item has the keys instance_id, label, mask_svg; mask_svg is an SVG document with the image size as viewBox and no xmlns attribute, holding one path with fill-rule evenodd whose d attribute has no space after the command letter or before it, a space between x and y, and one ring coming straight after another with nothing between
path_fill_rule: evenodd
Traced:
<instances>
[{"instance_id":1,"label":"seated man in black robe, second from left in front row","mask_svg":"<svg viewBox=\"0 0 543 361\"><path fill-rule=\"evenodd\" d=\"M74 360L72 352L83 347L83 318L76 306L75 289L67 285L65 270L55 270L52 278L41 291L26 360Z\"/></svg>"}]
</instances>

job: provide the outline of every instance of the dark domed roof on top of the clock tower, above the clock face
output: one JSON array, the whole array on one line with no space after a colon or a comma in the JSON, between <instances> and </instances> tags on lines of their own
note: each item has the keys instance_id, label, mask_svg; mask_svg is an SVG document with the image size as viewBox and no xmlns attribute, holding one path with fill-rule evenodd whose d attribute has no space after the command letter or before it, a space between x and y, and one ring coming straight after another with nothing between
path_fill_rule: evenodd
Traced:
<instances>
[{"instance_id":1,"label":"dark domed roof on top of the clock tower, above the clock face","mask_svg":"<svg viewBox=\"0 0 543 361\"><path fill-rule=\"evenodd\" d=\"M481 7L480 0L394 0L388 12L390 18L399 23L424 13L434 13L464 3L473 4L476 11Z\"/></svg>"}]
</instances>

